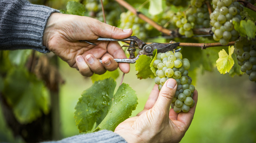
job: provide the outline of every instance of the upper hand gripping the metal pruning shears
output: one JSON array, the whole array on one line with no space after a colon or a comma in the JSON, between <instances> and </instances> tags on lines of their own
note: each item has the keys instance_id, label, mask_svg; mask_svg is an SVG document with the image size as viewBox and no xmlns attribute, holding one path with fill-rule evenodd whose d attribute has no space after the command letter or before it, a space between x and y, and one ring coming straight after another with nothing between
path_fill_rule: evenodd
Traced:
<instances>
[{"instance_id":1,"label":"upper hand gripping the metal pruning shears","mask_svg":"<svg viewBox=\"0 0 256 143\"><path fill-rule=\"evenodd\" d=\"M118 66L128 73L128 63L118 65L113 59L126 58L117 42L93 41L97 44L94 46L80 40L96 40L99 37L124 39L131 35L131 29L123 30L90 17L52 13L45 28L43 45L84 76L114 71ZM102 60L102 64L98 59Z\"/></svg>"}]
</instances>

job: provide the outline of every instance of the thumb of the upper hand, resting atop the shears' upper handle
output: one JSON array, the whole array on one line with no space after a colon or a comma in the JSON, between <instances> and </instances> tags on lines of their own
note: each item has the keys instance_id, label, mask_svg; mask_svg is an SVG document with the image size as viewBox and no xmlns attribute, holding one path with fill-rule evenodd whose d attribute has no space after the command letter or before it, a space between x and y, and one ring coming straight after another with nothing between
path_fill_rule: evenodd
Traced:
<instances>
[{"instance_id":1,"label":"thumb of the upper hand, resting atop the shears' upper handle","mask_svg":"<svg viewBox=\"0 0 256 143\"><path fill-rule=\"evenodd\" d=\"M132 29L121 29L109 24L100 22L99 27L96 28L96 33L98 36L103 38L113 38L113 39L124 39L130 37L133 33Z\"/></svg>"}]
</instances>

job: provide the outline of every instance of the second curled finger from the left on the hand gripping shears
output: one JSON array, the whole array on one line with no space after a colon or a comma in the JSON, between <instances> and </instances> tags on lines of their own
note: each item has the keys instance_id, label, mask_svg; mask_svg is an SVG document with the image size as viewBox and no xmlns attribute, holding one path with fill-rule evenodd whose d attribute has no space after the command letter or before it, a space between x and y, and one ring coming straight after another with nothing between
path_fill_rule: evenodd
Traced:
<instances>
[{"instance_id":1,"label":"second curled finger from the left on the hand gripping shears","mask_svg":"<svg viewBox=\"0 0 256 143\"><path fill-rule=\"evenodd\" d=\"M85 56L85 62L90 67L90 69L96 74L103 74L106 72L105 67L92 54L88 54Z\"/></svg>"}]
</instances>

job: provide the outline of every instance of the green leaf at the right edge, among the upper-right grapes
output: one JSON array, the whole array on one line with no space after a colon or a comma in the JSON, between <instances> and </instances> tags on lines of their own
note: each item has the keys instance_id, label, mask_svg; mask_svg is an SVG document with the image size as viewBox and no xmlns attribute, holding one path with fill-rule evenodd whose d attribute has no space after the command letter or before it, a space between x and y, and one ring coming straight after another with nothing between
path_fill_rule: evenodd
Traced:
<instances>
[{"instance_id":1,"label":"green leaf at the right edge, among the upper-right grapes","mask_svg":"<svg viewBox=\"0 0 256 143\"><path fill-rule=\"evenodd\" d=\"M256 26L251 20L241 20L240 24L233 21L234 28L240 33L240 36L248 38L248 40L255 38Z\"/></svg>"}]
</instances>

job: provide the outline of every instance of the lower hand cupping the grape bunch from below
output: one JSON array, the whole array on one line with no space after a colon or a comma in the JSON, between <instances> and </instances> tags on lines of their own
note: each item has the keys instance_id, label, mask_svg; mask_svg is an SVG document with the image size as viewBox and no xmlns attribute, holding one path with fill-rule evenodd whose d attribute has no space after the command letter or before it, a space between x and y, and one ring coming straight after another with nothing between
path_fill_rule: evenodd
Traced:
<instances>
[{"instance_id":1,"label":"lower hand cupping the grape bunch from below","mask_svg":"<svg viewBox=\"0 0 256 143\"><path fill-rule=\"evenodd\" d=\"M115 133L128 143L180 142L192 122L198 93L194 91L195 105L187 113L176 113L170 109L176 88L174 79L168 79L160 91L155 85L144 109L137 116L120 123Z\"/></svg>"}]
</instances>

